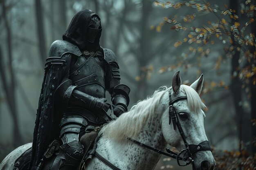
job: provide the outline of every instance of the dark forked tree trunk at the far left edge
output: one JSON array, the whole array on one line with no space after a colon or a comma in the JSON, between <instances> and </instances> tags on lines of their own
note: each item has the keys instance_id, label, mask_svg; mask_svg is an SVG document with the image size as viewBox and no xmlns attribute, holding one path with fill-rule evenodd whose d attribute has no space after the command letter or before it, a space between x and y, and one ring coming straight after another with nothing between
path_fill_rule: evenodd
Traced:
<instances>
[{"instance_id":1,"label":"dark forked tree trunk at the far left edge","mask_svg":"<svg viewBox=\"0 0 256 170\"><path fill-rule=\"evenodd\" d=\"M11 27L9 26L9 22L7 20L6 9L5 9L5 0L2 0L2 15L4 18L5 28L7 31L7 50L8 50L8 66L9 71L4 70L3 66L0 66L0 74L2 78L2 82L4 85L4 91L7 97L7 102L9 109L11 111L11 116L13 118L13 144L15 147L19 146L22 143L22 137L19 130L18 125L18 113L16 109L16 97L15 97L15 77L13 74L13 67L11 62L12 58L12 47L11 47ZM2 51L0 51L0 64L2 64ZM6 68L6 67L5 67ZM7 83L6 73L10 74L10 83ZM18 140L17 140L18 139Z\"/></svg>"}]
</instances>

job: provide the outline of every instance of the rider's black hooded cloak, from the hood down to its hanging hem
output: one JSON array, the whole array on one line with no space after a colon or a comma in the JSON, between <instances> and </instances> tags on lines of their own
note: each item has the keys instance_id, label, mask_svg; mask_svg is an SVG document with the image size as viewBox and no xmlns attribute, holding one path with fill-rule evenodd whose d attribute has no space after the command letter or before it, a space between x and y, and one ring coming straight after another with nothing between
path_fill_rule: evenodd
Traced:
<instances>
[{"instance_id":1,"label":"rider's black hooded cloak, from the hood down to its hanging hem","mask_svg":"<svg viewBox=\"0 0 256 170\"><path fill-rule=\"evenodd\" d=\"M99 16L91 10L79 11L72 19L67 31L63 34L63 40L67 41L66 43L70 42L76 45L80 51L99 50L101 32L97 35L94 43L86 40L88 23L93 16L96 16L100 20ZM70 62L65 59L67 55L63 54L70 52L70 48L67 48L66 43L58 43L56 41L56 43L52 44L49 57L45 64L45 75L38 102L31 163L29 165L29 169L31 170L35 170L38 167L49 144L54 139L59 140L59 122L62 113L61 108L63 106L54 101L54 93L69 71ZM72 48L76 47L72 44L70 45L70 43L68 43L68 46L73 46ZM80 51L79 53L81 55Z\"/></svg>"}]
</instances>

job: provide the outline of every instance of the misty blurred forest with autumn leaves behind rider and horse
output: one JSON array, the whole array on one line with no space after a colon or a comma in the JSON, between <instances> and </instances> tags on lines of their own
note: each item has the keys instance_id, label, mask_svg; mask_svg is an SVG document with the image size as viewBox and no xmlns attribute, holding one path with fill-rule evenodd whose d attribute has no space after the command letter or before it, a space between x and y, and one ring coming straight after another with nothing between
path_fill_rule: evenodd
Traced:
<instances>
[{"instance_id":1,"label":"misty blurred forest with autumn leaves behind rider and horse","mask_svg":"<svg viewBox=\"0 0 256 170\"><path fill-rule=\"evenodd\" d=\"M101 18L130 106L176 71L191 84L204 73L205 130L217 169L256 167L255 0L0 0L0 162L31 142L49 46L75 13ZM108 99L110 99L108 97ZM162 157L155 169L177 170Z\"/></svg>"}]
</instances>

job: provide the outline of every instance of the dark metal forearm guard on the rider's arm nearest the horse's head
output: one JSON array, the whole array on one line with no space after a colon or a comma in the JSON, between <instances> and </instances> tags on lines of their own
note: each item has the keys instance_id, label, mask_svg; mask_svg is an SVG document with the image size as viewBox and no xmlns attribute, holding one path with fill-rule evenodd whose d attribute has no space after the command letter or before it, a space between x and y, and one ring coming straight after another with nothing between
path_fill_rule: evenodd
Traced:
<instances>
[{"instance_id":1,"label":"dark metal forearm guard on the rider's arm nearest the horse's head","mask_svg":"<svg viewBox=\"0 0 256 170\"><path fill-rule=\"evenodd\" d=\"M112 103L116 105L123 106L127 111L127 106L129 105L130 88L124 84L119 84L114 88L114 95L112 95Z\"/></svg>"}]
</instances>

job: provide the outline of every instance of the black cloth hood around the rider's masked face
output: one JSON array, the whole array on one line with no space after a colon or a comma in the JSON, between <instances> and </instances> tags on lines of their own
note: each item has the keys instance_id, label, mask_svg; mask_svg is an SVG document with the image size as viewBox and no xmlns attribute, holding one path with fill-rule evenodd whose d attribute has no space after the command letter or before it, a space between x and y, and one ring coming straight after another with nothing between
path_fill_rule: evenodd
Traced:
<instances>
[{"instance_id":1,"label":"black cloth hood around the rider's masked face","mask_svg":"<svg viewBox=\"0 0 256 170\"><path fill-rule=\"evenodd\" d=\"M99 38L101 37L101 31L93 43L87 41L88 24L93 16L96 16L100 20L99 16L92 10L85 9L76 13L67 31L62 36L63 40L75 44L81 52L85 50L97 51L100 49Z\"/></svg>"}]
</instances>

